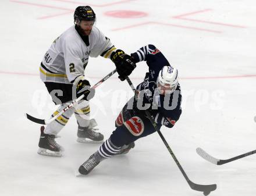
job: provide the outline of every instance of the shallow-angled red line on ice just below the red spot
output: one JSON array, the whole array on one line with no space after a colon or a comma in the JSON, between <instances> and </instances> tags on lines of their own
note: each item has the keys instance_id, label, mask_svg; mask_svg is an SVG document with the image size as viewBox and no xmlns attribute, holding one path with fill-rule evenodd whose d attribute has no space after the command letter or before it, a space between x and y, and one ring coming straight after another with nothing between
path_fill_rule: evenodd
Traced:
<instances>
[{"instance_id":1,"label":"shallow-angled red line on ice just below the red spot","mask_svg":"<svg viewBox=\"0 0 256 196\"><path fill-rule=\"evenodd\" d=\"M159 22L138 23L138 24L133 24L133 25L126 26L126 27L113 28L112 31L119 31L119 30L123 30L123 29L126 29L126 28L133 28L133 27L143 26L143 25L147 25L147 24L161 24L161 25L165 25L165 26L173 26L173 27L178 27L178 28L189 28L189 29L198 30L198 31L208 31L208 32L212 32L212 33L222 33L221 31L209 30L207 28L197 28L197 27L189 27L189 26L182 26L182 25L178 25L178 24L159 23Z\"/></svg>"}]
</instances>

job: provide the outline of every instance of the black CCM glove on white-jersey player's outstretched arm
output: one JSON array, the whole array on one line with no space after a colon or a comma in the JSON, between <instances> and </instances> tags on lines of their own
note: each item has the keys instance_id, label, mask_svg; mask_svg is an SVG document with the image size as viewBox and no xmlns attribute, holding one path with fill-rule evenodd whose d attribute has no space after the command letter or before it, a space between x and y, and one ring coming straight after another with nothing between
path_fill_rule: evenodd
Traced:
<instances>
[{"instance_id":1,"label":"black CCM glove on white-jersey player's outstretched arm","mask_svg":"<svg viewBox=\"0 0 256 196\"><path fill-rule=\"evenodd\" d=\"M123 81L126 76L129 76L136 67L136 64L131 59L131 56L125 54L122 50L118 49L111 54L111 60L115 63L116 70L119 74L118 78Z\"/></svg>"}]
</instances>

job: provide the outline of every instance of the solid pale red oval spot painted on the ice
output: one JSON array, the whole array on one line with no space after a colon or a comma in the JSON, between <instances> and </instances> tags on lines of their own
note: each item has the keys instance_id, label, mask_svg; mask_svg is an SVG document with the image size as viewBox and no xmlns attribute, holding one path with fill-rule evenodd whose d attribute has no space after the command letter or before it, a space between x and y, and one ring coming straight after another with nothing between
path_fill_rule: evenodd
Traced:
<instances>
[{"instance_id":1,"label":"solid pale red oval spot painted on the ice","mask_svg":"<svg viewBox=\"0 0 256 196\"><path fill-rule=\"evenodd\" d=\"M137 17L145 17L148 14L145 12L131 11L131 10L113 10L109 12L105 12L106 16L111 17L120 17L120 18L137 18Z\"/></svg>"}]
</instances>

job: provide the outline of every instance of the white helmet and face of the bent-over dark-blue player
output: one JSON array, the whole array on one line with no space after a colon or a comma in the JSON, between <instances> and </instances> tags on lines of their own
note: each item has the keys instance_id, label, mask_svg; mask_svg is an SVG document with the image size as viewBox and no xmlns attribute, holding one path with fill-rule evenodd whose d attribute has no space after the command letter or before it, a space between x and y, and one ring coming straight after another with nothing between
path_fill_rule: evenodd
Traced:
<instances>
[{"instance_id":1,"label":"white helmet and face of the bent-over dark-blue player","mask_svg":"<svg viewBox=\"0 0 256 196\"><path fill-rule=\"evenodd\" d=\"M178 70L172 66L164 66L158 74L157 87L159 94L171 94L178 85Z\"/></svg>"}]
</instances>

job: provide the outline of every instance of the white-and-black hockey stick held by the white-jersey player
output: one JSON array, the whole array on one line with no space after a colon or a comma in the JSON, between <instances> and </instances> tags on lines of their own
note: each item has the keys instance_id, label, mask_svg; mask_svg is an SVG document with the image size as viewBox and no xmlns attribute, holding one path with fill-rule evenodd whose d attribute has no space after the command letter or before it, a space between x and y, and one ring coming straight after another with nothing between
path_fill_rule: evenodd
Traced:
<instances>
[{"instance_id":1,"label":"white-and-black hockey stick held by the white-jersey player","mask_svg":"<svg viewBox=\"0 0 256 196\"><path fill-rule=\"evenodd\" d=\"M97 84L95 84L93 87L91 88L97 88L101 83L104 83L104 81L106 81L107 79L109 79L109 77L111 77L114 73L116 73L116 69L113 70L111 73L109 73L108 75L106 75L102 80L98 81ZM59 116L62 115L62 113L66 112L69 108L72 108L74 105L77 104L77 102L79 102L81 99L84 98L84 95L81 95L79 98L75 99L71 104L69 104L68 106L66 106L66 108L62 109L61 112L58 113L58 115L52 117L51 119L48 119L48 120L45 120L45 119L38 119L36 117L33 117L29 114L26 113L26 117L27 119L35 122L35 123L38 123L38 124L49 124L51 123L52 121L54 121L55 119L57 119Z\"/></svg>"}]
</instances>

